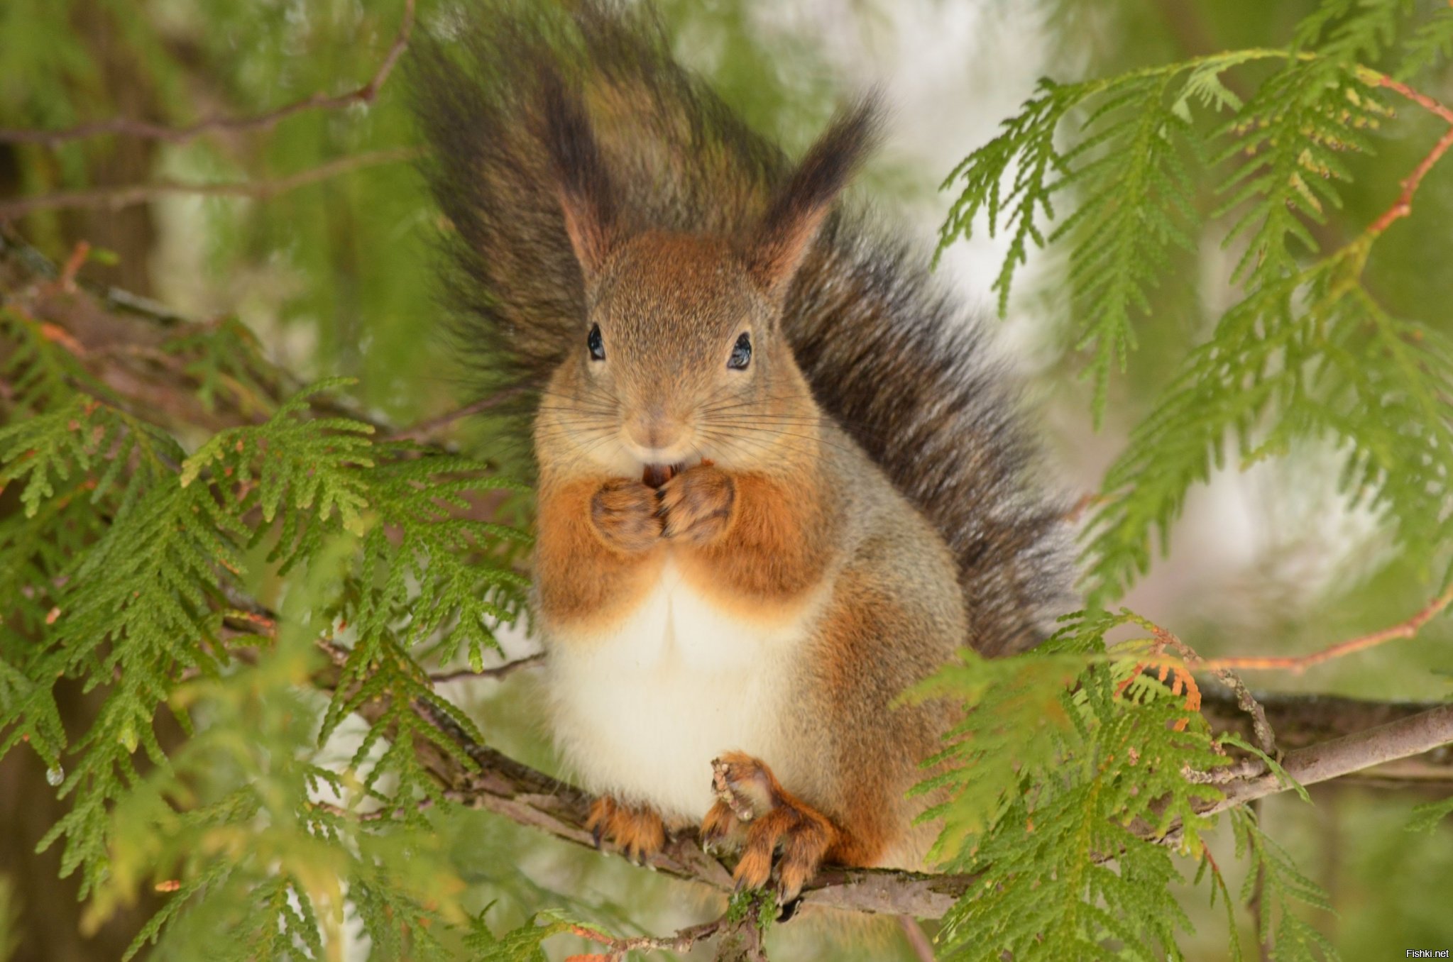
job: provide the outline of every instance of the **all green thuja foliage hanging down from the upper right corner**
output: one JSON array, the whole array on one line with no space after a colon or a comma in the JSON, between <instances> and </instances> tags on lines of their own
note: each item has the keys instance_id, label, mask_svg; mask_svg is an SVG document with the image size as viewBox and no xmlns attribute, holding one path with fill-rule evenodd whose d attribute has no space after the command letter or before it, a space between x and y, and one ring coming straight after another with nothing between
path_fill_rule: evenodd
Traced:
<instances>
[{"instance_id":1,"label":"all green thuja foliage hanging down from the upper right corner","mask_svg":"<svg viewBox=\"0 0 1453 962\"><path fill-rule=\"evenodd\" d=\"M1412 25L1399 49L1409 71L1447 44L1443 15ZM1379 224L1331 251L1316 234L1343 205L1350 158L1373 150L1391 115L1386 77L1369 64L1408 19L1396 0L1324 3L1282 49L1045 81L950 176L963 192L942 244L966 237L979 215L989 231L1010 231L1001 310L1030 243L1068 246L1068 305L1075 346L1091 352L1097 417L1112 369L1135 346L1135 321L1168 273L1168 251L1213 237L1238 251L1235 302L1106 472L1084 555L1093 600L1122 594L1149 567L1152 541L1168 543L1186 493L1225 464L1228 448L1248 465L1332 446L1345 459L1348 501L1386 519L1412 565L1446 564L1453 353L1434 327L1396 317L1364 282ZM1244 87L1258 76L1252 67L1261 80L1242 97L1229 78ZM1207 189L1216 203L1202 214L1196 198ZM1056 205L1069 214L1051 231Z\"/></svg>"}]
</instances>

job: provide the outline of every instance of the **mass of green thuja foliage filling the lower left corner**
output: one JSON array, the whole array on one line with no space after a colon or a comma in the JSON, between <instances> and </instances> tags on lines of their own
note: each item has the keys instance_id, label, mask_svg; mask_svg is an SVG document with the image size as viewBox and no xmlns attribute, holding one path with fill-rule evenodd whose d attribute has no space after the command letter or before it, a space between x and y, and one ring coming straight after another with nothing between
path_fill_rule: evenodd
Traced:
<instances>
[{"instance_id":1,"label":"mass of green thuja foliage filling the lower left corner","mask_svg":"<svg viewBox=\"0 0 1453 962\"><path fill-rule=\"evenodd\" d=\"M44 359L32 363L65 369L64 346L36 344ZM195 372L264 366L235 356L246 339L170 346ZM62 872L81 869L96 917L145 873L176 879L134 952L161 937L164 952L193 958L180 946L225 933L227 958L321 958L352 913L394 958L453 958L466 920L439 895L453 873L418 801L443 799L414 741L458 747L417 708L472 725L433 692L421 660L464 651L481 664L498 650L494 628L517 618L525 580L513 564L527 538L468 512L471 497L519 485L320 414L344 381L190 456L78 378L17 384L38 413L0 429L0 481L23 507L0 523L0 590L16 612L0 648L0 747L28 743L73 798L41 847L64 840ZM228 410L251 410L262 385L218 387ZM262 605L289 571L279 622ZM320 639L341 660L327 705L299 687L320 670ZM74 738L54 698L62 677L105 686ZM340 721L371 702L388 708L349 764L321 766ZM180 745L158 735L163 706ZM320 795L375 815L350 818Z\"/></svg>"}]
</instances>

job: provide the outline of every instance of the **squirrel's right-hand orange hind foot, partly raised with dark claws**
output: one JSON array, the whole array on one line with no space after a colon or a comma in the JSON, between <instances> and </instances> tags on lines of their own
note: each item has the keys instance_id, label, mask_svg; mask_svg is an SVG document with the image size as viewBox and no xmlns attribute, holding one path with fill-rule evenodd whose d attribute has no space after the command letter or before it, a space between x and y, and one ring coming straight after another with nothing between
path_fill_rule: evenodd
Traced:
<instances>
[{"instance_id":1,"label":"squirrel's right-hand orange hind foot, partly raised with dark claws","mask_svg":"<svg viewBox=\"0 0 1453 962\"><path fill-rule=\"evenodd\" d=\"M766 763L741 751L712 761L712 791L716 804L702 821L702 843L741 844L732 872L738 889L761 888L776 869L780 901L795 900L837 840L837 827L783 789Z\"/></svg>"}]
</instances>

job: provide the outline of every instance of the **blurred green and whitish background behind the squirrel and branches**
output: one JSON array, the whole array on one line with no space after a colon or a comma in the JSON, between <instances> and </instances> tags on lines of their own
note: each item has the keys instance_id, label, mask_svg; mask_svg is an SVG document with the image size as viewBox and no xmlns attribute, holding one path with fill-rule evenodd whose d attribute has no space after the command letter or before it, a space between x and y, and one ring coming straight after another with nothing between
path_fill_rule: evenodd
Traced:
<instances>
[{"instance_id":1,"label":"blurred green and whitish background behind the squirrel and branches","mask_svg":"<svg viewBox=\"0 0 1453 962\"><path fill-rule=\"evenodd\" d=\"M418 0L418 29L453 0ZM680 57L711 76L761 131L799 150L833 106L881 86L894 108L888 147L859 187L885 218L923 243L926 256L950 196L939 185L994 135L1042 76L1078 80L1237 47L1289 41L1311 0L663 0ZM1428 4L1437 6L1437 4ZM86 203L26 214L16 230L58 262L77 241L102 251L81 278L150 296L195 318L237 318L301 378L352 375L357 400L405 424L471 400L443 343L430 237L437 215L407 157L416 142L402 78L371 102L302 110L276 124L224 126L196 137L122 131L64 142L17 131L71 128L113 118L180 129L214 115L256 116L314 93L359 90L384 62L402 0L0 0L0 203L31 195L125 185L273 185L257 196L157 190L141 203ZM404 54L407 57L407 52ZM1421 89L1453 99L1453 78ZM1351 158L1345 206L1319 238L1350 235L1396 195L1398 180L1431 142L1430 122L1405 112L1375 157ZM341 163L340 163L341 161ZM327 167L325 167L327 166ZM324 169L328 176L307 171ZM308 180L302 183L302 180ZM1207 206L1210 206L1207 201ZM1369 266L1377 296L1408 317L1453 328L1453 169L1436 169L1414 218L1379 243ZM1213 225L1223 234L1223 224ZM998 349L1021 376L1032 420L1051 453L1052 482L1069 497L1097 490L1184 352L1234 295L1235 260L1215 238L1194 257L1174 254L1139 324L1141 347L1112 382L1106 423L1094 430L1090 385L1068 343L1061 264L1032 257L1003 320L988 288L1004 246L976 234L950 247L939 275L979 305ZM1453 331L1450 331L1453 333ZM485 419L459 421L452 440L500 456L517 450ZM1376 519L1335 491L1332 452L1303 450L1225 471L1196 491L1171 551L1125 603L1171 626L1202 654L1290 654L1395 623L1433 587L1398 564ZM0 512L15 510L12 500ZM1252 687L1369 699L1449 693L1453 629L1436 622L1412 642L1385 645L1302 676L1250 679ZM519 652L529 639L514 639ZM455 683L450 692L501 750L552 764L527 677ZM87 712L68 696L68 711ZM346 756L344 756L346 757ZM1446 792L1446 789L1444 789ZM1263 809L1268 833L1332 894L1335 917L1316 924L1344 958L1401 958L1404 947L1453 947L1453 830L1404 831L1408 809L1434 795L1327 786L1316 807L1279 796ZM58 854L33 854L64 811L42 766L16 751L0 761L0 959L113 959L155 904L99 931L80 933L74 879ZM536 908L571 904L619 931L663 931L696 921L696 895L619 860L580 854L488 815L452 825L461 872L491 920L519 924ZM1234 862L1229 846L1222 865ZM1219 850L1218 850L1219 857ZM1232 876L1235 876L1232 870ZM568 895L567 895L568 894ZM1221 908L1187 886L1200 936L1190 958L1225 955ZM1250 934L1251 915L1239 913ZM821 931L774 958L912 958L895 930L849 953ZM1254 940L1247 945L1254 945ZM559 949L559 953L568 949Z\"/></svg>"}]
</instances>

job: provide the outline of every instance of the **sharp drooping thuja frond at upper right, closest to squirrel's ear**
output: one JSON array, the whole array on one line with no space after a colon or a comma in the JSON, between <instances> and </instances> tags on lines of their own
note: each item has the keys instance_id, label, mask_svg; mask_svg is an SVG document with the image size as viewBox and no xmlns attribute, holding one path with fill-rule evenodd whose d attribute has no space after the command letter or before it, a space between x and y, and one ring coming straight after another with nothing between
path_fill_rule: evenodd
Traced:
<instances>
[{"instance_id":1,"label":"sharp drooping thuja frond at upper right, closest to squirrel's ear","mask_svg":"<svg viewBox=\"0 0 1453 962\"><path fill-rule=\"evenodd\" d=\"M991 235L1010 235L994 282L1001 314L1029 246L1068 244L1075 343L1093 352L1096 417L1110 372L1123 368L1135 346L1133 321L1149 310L1149 289L1170 253L1194 247L1199 215L1186 160L1205 154L1209 137L1193 124L1191 108L1239 108L1221 76L1283 57L1235 51L1077 84L1040 81L1003 132L944 180L946 189L962 185L962 192L940 228L940 253L968 238L979 217ZM1075 131L1069 147L1058 144L1062 126ZM1051 228L1056 205L1072 212Z\"/></svg>"}]
</instances>

